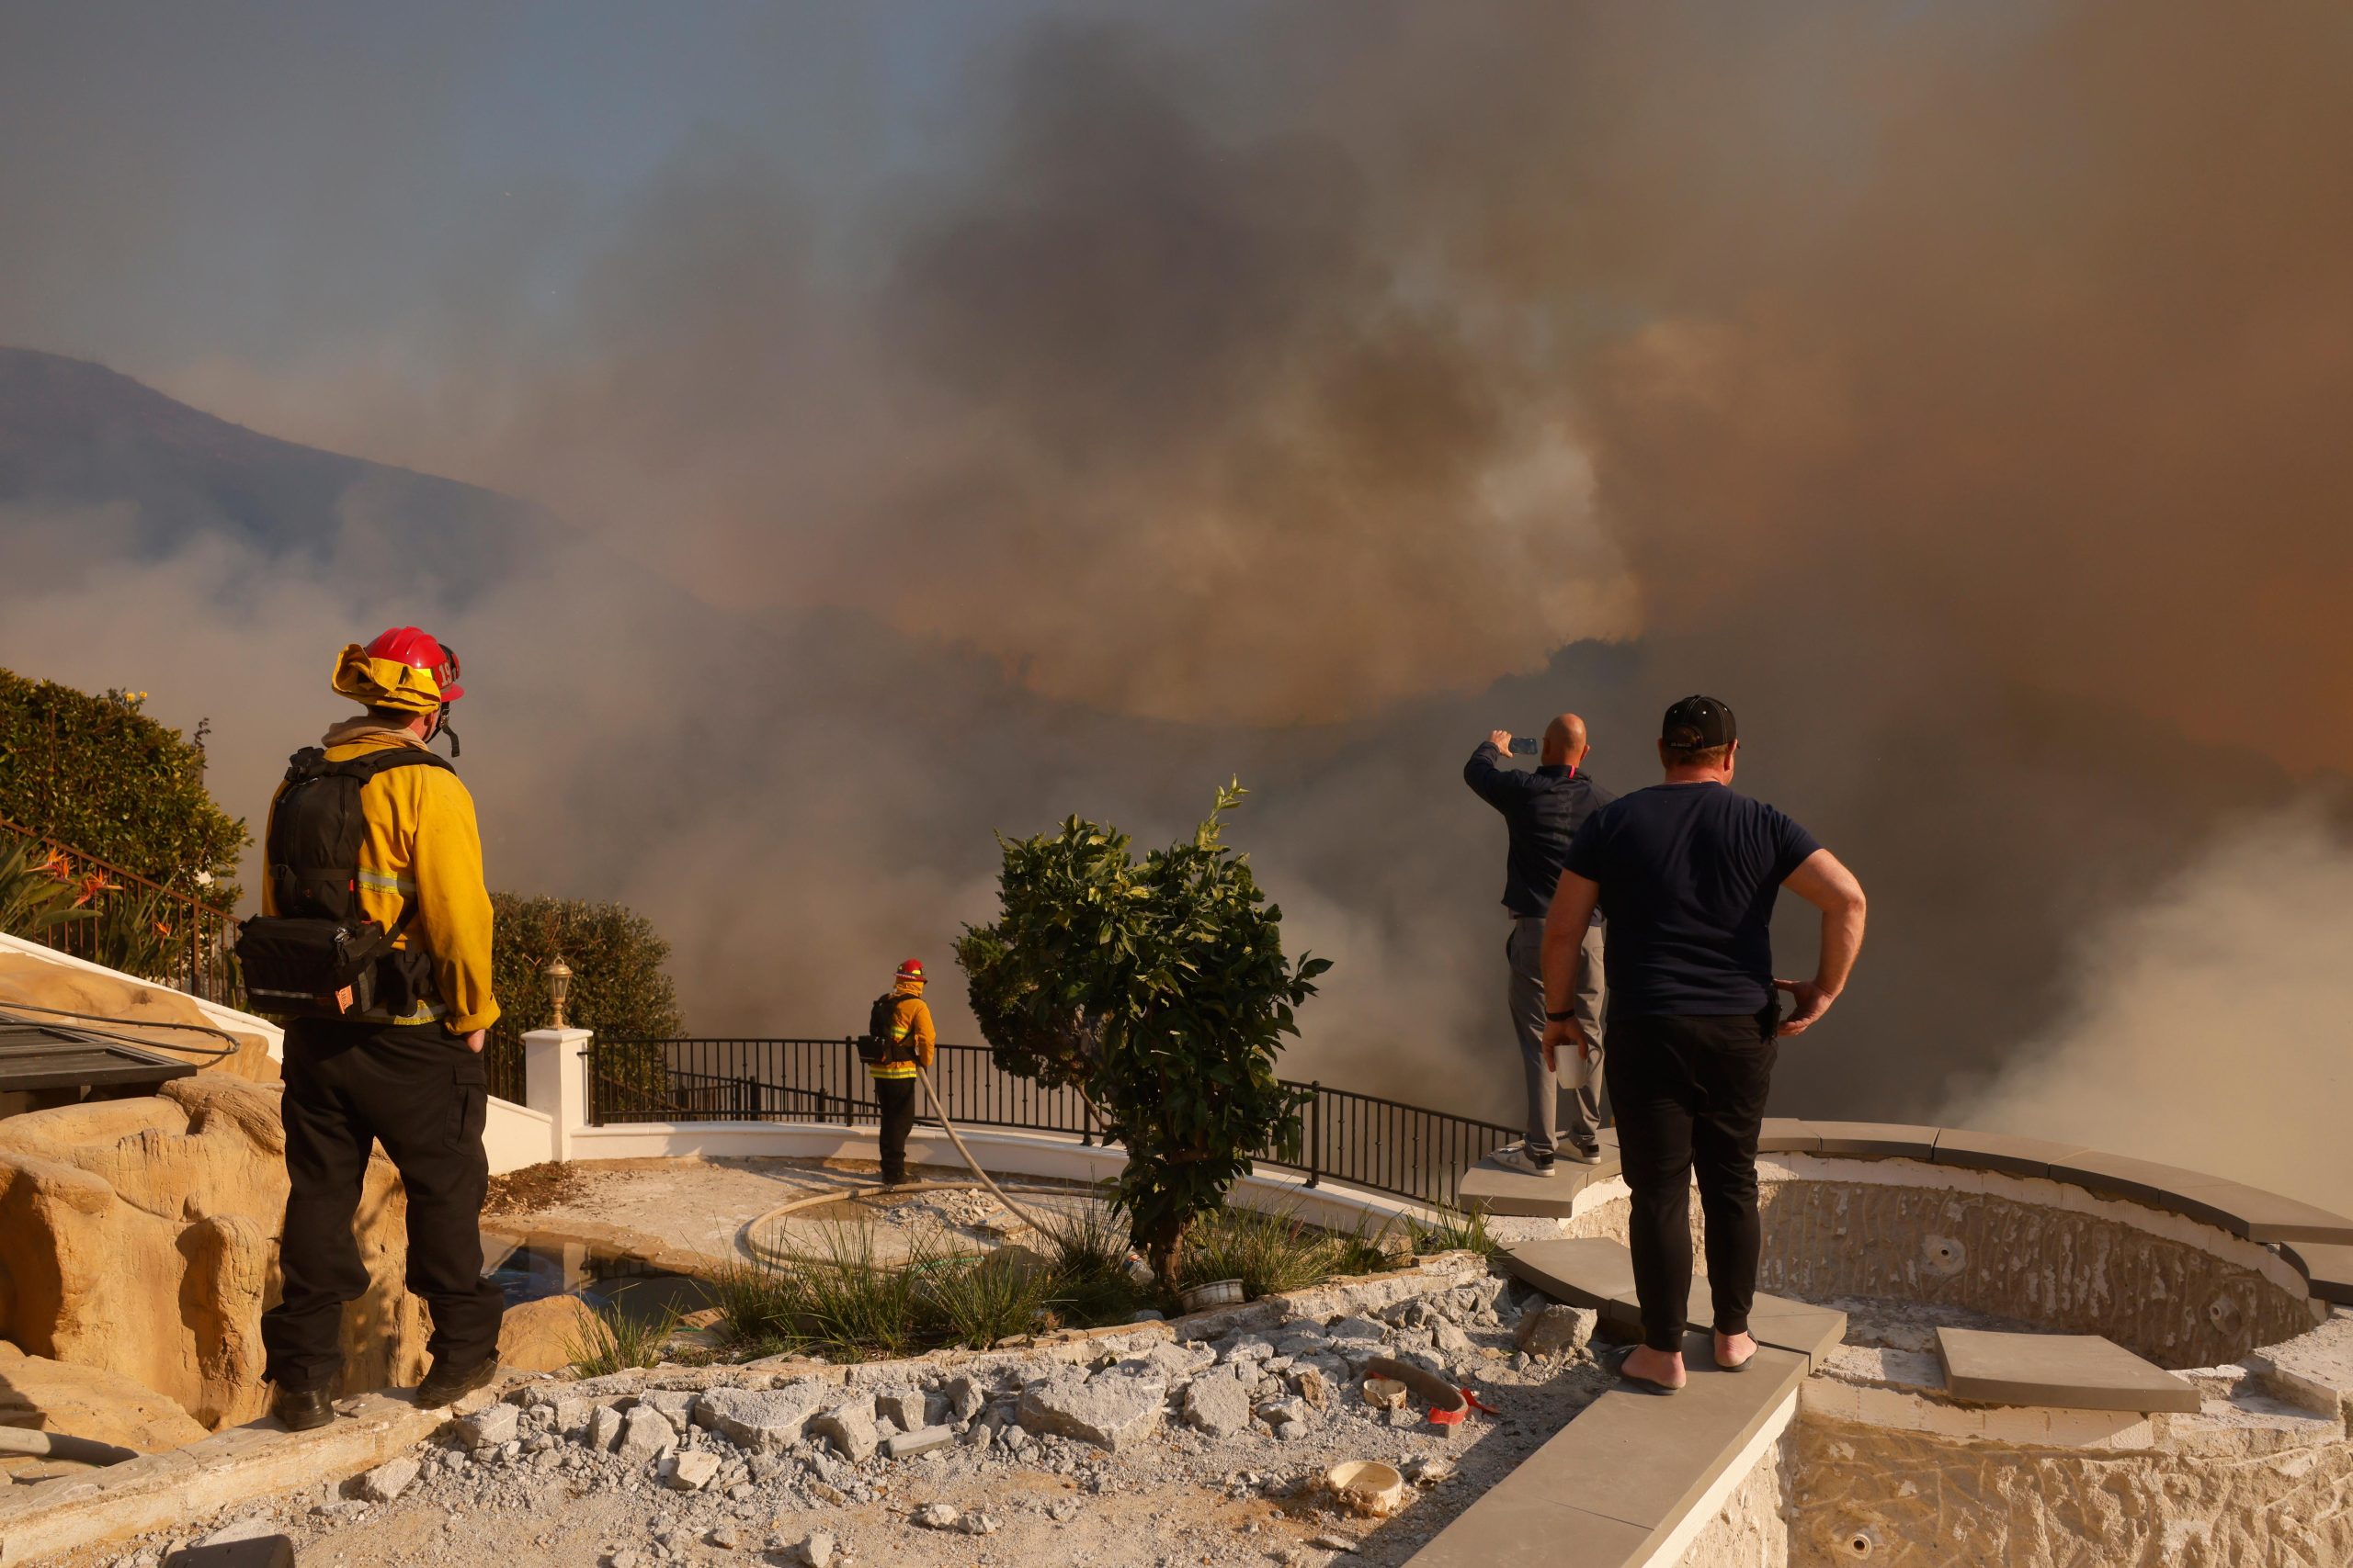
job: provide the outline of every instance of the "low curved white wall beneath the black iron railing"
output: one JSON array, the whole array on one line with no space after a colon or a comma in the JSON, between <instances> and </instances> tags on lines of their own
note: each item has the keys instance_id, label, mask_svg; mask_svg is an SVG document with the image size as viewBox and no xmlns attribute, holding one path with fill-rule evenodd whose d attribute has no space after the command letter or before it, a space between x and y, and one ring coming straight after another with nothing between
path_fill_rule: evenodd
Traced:
<instances>
[{"instance_id":1,"label":"low curved white wall beneath the black iron railing","mask_svg":"<svg viewBox=\"0 0 2353 1568\"><path fill-rule=\"evenodd\" d=\"M1068 1133L1009 1133L958 1128L965 1147L991 1175L1040 1175L1066 1182L1115 1180L1127 1166L1118 1147L1082 1145ZM826 1121L631 1121L584 1126L569 1138L572 1159L880 1159L880 1133L871 1126ZM962 1166L948 1135L918 1126L906 1143L908 1164ZM1325 1229L1379 1232L1405 1220L1433 1220L1424 1204L1306 1175L1259 1168L1233 1185L1245 1208L1297 1213Z\"/></svg>"}]
</instances>

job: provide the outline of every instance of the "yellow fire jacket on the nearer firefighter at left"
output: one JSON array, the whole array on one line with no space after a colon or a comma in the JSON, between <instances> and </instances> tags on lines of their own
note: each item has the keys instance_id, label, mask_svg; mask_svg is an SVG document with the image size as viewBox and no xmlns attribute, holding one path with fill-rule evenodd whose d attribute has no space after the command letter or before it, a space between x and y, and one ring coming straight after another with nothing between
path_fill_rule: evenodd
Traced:
<instances>
[{"instance_id":1,"label":"yellow fire jacket on the nearer firefighter at left","mask_svg":"<svg viewBox=\"0 0 2353 1568\"><path fill-rule=\"evenodd\" d=\"M374 719L346 719L325 733L327 762L351 762L393 745L424 748L414 733ZM285 792L285 785L278 785ZM278 795L271 797L271 813ZM473 795L447 769L388 769L360 788L360 910L391 926L405 900L416 919L400 947L433 954L435 997L407 1018L358 1013L367 1023L447 1023L452 1034L487 1030L499 1018L489 994L489 889L482 884L482 832ZM264 839L268 842L268 839ZM261 912L275 914L268 877Z\"/></svg>"}]
</instances>

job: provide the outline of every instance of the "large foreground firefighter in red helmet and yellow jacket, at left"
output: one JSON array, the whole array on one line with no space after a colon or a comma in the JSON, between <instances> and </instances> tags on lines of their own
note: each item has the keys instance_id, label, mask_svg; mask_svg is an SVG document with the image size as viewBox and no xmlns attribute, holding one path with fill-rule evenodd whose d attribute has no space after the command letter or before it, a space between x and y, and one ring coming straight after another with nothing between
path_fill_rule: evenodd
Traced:
<instances>
[{"instance_id":1,"label":"large foreground firefighter in red helmet and yellow jacket, at left","mask_svg":"<svg viewBox=\"0 0 2353 1568\"><path fill-rule=\"evenodd\" d=\"M428 745L456 677L456 654L416 628L344 649L332 686L367 712L294 755L271 799L264 919L238 947L254 1004L287 1016L285 1284L261 1342L271 1413L292 1429L334 1420L344 1305L367 1288L351 1220L376 1143L407 1187L407 1286L433 1314L419 1403L499 1371L504 1298L480 1234L489 893L473 797Z\"/></svg>"}]
</instances>

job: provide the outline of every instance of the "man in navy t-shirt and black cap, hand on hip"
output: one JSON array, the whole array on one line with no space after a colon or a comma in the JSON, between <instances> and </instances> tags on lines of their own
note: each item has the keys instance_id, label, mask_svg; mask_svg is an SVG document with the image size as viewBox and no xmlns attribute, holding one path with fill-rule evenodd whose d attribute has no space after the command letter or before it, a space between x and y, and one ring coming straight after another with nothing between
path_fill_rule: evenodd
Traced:
<instances>
[{"instance_id":1,"label":"man in navy t-shirt and black cap, hand on hip","mask_svg":"<svg viewBox=\"0 0 2353 1568\"><path fill-rule=\"evenodd\" d=\"M1544 929L1544 990L1577 990L1593 910L1609 922L1609 1100L1619 1164L1633 1194L1628 1248L1642 1345L1619 1375L1673 1394L1685 1382L1692 1293L1692 1173L1706 1220L1715 1366L1755 1354L1748 1307L1758 1284L1758 1124L1774 1041L1802 1034L1838 999L1864 945L1864 889L1828 849L1765 802L1732 792L1732 710L1687 696L1659 726L1666 783L1586 818ZM1791 889L1821 910L1812 980L1772 973L1772 905ZM1774 987L1798 999L1781 1020ZM1567 1011L1546 1013L1544 1048L1588 1048Z\"/></svg>"}]
</instances>

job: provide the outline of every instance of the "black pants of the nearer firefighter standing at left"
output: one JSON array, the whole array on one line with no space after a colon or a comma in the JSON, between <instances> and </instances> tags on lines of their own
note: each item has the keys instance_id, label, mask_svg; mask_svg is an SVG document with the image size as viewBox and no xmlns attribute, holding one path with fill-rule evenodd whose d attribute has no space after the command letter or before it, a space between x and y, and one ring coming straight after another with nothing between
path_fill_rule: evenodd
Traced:
<instances>
[{"instance_id":1,"label":"black pants of the nearer firefighter standing at left","mask_svg":"<svg viewBox=\"0 0 2353 1568\"><path fill-rule=\"evenodd\" d=\"M433 1312L426 1349L454 1368L496 1354L506 1302L482 1279L482 1058L440 1025L315 1018L287 1027L285 1058L292 1187L278 1248L285 1286L261 1314L264 1375L282 1389L325 1389L344 1368L344 1302L367 1291L351 1218L376 1143L409 1197L407 1286Z\"/></svg>"}]
</instances>

